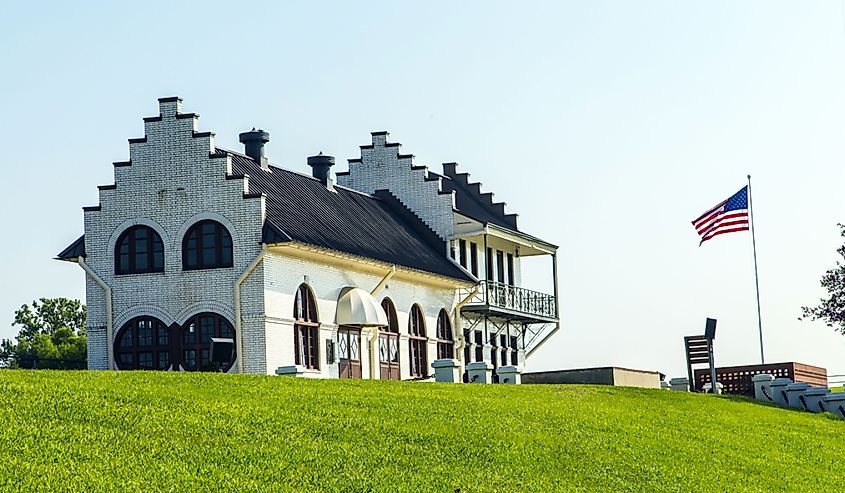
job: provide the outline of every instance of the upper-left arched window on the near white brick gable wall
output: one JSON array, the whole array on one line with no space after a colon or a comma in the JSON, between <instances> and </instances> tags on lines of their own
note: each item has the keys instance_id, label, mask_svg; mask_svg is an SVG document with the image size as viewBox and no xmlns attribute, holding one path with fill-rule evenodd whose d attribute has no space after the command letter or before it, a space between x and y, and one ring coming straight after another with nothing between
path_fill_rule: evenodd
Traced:
<instances>
[{"instance_id":1,"label":"upper-left arched window on the near white brick gable wall","mask_svg":"<svg viewBox=\"0 0 845 493\"><path fill-rule=\"evenodd\" d=\"M164 244L149 226L132 226L114 246L115 274L164 272Z\"/></svg>"}]
</instances>

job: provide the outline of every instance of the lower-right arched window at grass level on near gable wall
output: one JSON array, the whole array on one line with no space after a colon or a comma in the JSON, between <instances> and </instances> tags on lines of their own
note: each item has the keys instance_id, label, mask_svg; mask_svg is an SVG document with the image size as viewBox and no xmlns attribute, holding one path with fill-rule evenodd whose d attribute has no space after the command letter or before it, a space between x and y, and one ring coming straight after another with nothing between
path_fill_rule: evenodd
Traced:
<instances>
[{"instance_id":1,"label":"lower-right arched window at grass level on near gable wall","mask_svg":"<svg viewBox=\"0 0 845 493\"><path fill-rule=\"evenodd\" d=\"M235 338L235 329L228 320L216 313L200 313L182 326L182 368L188 371L228 371L235 361L232 358L219 368L211 361L211 338Z\"/></svg>"}]
</instances>

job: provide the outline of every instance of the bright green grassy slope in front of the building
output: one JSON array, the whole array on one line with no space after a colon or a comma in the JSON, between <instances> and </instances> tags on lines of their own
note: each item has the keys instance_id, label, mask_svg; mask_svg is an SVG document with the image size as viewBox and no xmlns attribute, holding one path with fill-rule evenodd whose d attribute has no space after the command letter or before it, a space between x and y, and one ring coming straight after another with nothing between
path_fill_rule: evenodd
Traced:
<instances>
[{"instance_id":1,"label":"bright green grassy slope in front of the building","mask_svg":"<svg viewBox=\"0 0 845 493\"><path fill-rule=\"evenodd\" d=\"M845 421L738 398L0 371L0 491L840 491L843 472Z\"/></svg>"}]
</instances>

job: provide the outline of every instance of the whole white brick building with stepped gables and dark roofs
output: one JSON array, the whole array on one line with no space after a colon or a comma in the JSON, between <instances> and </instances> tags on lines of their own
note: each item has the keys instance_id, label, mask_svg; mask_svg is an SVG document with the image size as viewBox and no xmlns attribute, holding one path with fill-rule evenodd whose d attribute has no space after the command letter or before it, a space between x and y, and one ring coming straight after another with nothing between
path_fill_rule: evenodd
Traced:
<instances>
[{"instance_id":1,"label":"whole white brick building with stepped gables and dark roofs","mask_svg":"<svg viewBox=\"0 0 845 493\"><path fill-rule=\"evenodd\" d=\"M241 154L181 99L159 112L58 255L86 272L89 368L426 379L438 359L521 366L557 329L556 298L519 287L519 258L556 247L454 163L378 132L335 186L329 156L295 173L266 132Z\"/></svg>"}]
</instances>

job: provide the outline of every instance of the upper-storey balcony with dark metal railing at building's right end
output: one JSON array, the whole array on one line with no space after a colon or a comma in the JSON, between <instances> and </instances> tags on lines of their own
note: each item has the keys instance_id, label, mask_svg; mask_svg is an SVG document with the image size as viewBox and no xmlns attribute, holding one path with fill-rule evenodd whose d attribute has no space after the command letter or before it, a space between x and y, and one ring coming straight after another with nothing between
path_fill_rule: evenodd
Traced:
<instances>
[{"instance_id":1,"label":"upper-storey balcony with dark metal railing at building's right end","mask_svg":"<svg viewBox=\"0 0 845 493\"><path fill-rule=\"evenodd\" d=\"M527 323L556 322L558 319L554 296L493 281L481 281L478 295L462 311Z\"/></svg>"}]
</instances>

